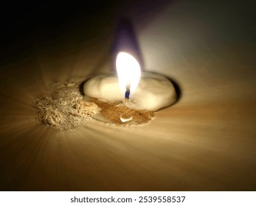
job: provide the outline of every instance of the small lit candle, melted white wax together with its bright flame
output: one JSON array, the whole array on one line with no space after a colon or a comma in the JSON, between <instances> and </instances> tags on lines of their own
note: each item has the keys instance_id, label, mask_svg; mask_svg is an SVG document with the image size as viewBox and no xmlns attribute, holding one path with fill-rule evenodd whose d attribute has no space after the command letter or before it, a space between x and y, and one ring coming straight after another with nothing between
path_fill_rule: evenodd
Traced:
<instances>
[{"instance_id":1,"label":"small lit candle, melted white wax together with its bright flame","mask_svg":"<svg viewBox=\"0 0 256 206\"><path fill-rule=\"evenodd\" d=\"M141 73L139 63L131 54L117 55L117 75L92 77L83 85L84 93L104 102L123 101L133 110L156 111L176 101L172 82L158 74ZM127 86L129 100L124 101Z\"/></svg>"}]
</instances>

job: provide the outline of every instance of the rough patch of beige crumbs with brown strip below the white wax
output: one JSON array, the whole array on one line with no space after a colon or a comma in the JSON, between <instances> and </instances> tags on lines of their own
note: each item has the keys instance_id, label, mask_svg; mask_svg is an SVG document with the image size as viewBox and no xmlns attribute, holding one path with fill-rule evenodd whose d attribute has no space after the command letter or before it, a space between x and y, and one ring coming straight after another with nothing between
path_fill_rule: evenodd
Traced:
<instances>
[{"instance_id":1,"label":"rough patch of beige crumbs with brown strip below the white wax","mask_svg":"<svg viewBox=\"0 0 256 206\"><path fill-rule=\"evenodd\" d=\"M49 94L35 100L36 119L49 127L67 130L92 122L134 126L145 124L153 118L153 112L131 110L122 102L108 103L98 99L84 101L80 91L83 81L77 78L64 83L52 83ZM131 118L131 121L122 122L121 118Z\"/></svg>"}]
</instances>

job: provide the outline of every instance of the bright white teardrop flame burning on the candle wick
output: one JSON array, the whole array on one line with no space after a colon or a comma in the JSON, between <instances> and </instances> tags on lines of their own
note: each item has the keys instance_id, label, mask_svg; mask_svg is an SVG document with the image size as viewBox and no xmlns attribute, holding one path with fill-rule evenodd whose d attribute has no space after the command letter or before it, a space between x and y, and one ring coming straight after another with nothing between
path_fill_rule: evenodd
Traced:
<instances>
[{"instance_id":1,"label":"bright white teardrop flame burning on the candle wick","mask_svg":"<svg viewBox=\"0 0 256 206\"><path fill-rule=\"evenodd\" d=\"M125 90L130 86L131 95L135 92L141 75L138 61L126 52L117 54L117 76L121 92L125 94Z\"/></svg>"}]
</instances>

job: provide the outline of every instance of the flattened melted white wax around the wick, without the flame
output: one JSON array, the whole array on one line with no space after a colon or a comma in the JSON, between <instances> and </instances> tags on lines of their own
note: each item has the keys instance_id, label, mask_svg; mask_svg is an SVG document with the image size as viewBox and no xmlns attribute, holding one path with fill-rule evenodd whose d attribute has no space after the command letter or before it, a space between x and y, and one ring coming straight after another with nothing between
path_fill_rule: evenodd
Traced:
<instances>
[{"instance_id":1,"label":"flattened melted white wax around the wick, without the flame","mask_svg":"<svg viewBox=\"0 0 256 206\"><path fill-rule=\"evenodd\" d=\"M83 90L86 96L113 102L125 99L125 90L120 89L117 76L97 76L89 79ZM124 104L134 110L156 111L176 101L172 82L157 74L142 73L139 85Z\"/></svg>"}]
</instances>

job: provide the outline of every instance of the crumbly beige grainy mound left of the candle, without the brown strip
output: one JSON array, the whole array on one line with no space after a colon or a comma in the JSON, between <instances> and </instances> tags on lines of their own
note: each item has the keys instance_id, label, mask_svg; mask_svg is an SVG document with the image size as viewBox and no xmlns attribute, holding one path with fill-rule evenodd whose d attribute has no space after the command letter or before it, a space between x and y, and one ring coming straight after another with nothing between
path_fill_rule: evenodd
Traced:
<instances>
[{"instance_id":1,"label":"crumbly beige grainy mound left of the candle, without the brown strip","mask_svg":"<svg viewBox=\"0 0 256 206\"><path fill-rule=\"evenodd\" d=\"M79 85L81 79L72 79L66 83L52 83L50 95L36 99L37 119L55 129L74 129L99 113L99 107L93 102L83 101Z\"/></svg>"}]
</instances>

